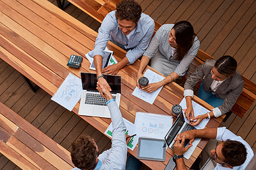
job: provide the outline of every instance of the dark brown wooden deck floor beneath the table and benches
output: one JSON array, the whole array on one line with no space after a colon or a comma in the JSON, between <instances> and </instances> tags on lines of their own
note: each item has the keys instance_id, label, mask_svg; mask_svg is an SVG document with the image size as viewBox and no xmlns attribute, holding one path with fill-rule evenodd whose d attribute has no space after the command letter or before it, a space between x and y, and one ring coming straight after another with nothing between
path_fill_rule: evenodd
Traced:
<instances>
[{"instance_id":1,"label":"dark brown wooden deck floor beneath the table and benches","mask_svg":"<svg viewBox=\"0 0 256 170\"><path fill-rule=\"evenodd\" d=\"M57 4L55 0L48 0ZM143 12L160 24L189 20L200 39L200 49L218 59L231 55L239 63L238 71L256 83L256 1L252 0L137 0ZM72 4L65 11L95 31L99 22ZM81 134L92 136L100 152L111 141L76 114L51 101L39 90L34 94L22 75L0 59L0 101L35 125L40 131L70 150L70 143ZM256 152L256 108L244 118L232 114L221 124L244 138ZM0 153L0 169L19 169ZM143 169L147 169L144 167Z\"/></svg>"}]
</instances>

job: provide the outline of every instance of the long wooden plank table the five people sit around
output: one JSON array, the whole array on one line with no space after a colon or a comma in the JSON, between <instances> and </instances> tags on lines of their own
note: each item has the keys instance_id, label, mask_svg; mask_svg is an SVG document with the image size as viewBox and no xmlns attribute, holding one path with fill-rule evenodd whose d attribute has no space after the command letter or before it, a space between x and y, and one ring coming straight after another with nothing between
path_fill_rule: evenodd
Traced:
<instances>
[{"instance_id":1,"label":"long wooden plank table the five people sit around","mask_svg":"<svg viewBox=\"0 0 256 170\"><path fill-rule=\"evenodd\" d=\"M1 59L51 96L68 73L80 77L81 72L94 72L89 69L90 63L85 57L79 69L68 67L67 62L71 54L84 56L92 50L97 32L46 0L0 0L0 9ZM124 50L113 43L108 43L108 48L113 50L117 60L125 56ZM170 115L173 104L179 104L182 100L184 89L176 83L165 85L154 104L148 104L132 96L139 65L140 62L137 60L118 72L118 75L122 76L122 116L134 122L137 111ZM194 100L211 110L212 107L198 97L194 97ZM73 111L78 113L78 110L79 103ZM81 118L102 133L111 123L110 118ZM223 117L211 119L207 127L218 127L222 120ZM186 166L192 166L206 143L207 140L203 139L191 158L185 159ZM129 152L136 156L137 147ZM164 169L172 155L173 151L168 148L165 162L141 161L152 169Z\"/></svg>"}]
</instances>

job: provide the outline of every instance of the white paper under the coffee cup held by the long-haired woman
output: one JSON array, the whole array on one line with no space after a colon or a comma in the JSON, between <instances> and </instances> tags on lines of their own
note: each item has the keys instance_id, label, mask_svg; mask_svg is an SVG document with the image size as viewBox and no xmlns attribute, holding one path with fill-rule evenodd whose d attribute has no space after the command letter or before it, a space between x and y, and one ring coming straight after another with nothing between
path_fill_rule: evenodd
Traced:
<instances>
[{"instance_id":1,"label":"white paper under the coffee cup held by the long-haired woman","mask_svg":"<svg viewBox=\"0 0 256 170\"><path fill-rule=\"evenodd\" d=\"M164 80L163 76L157 74L156 72L150 69L147 69L144 76L148 78L149 83L157 83L159 81ZM132 95L142 99L143 101L146 101L147 103L153 104L154 101L156 100L157 95L162 90L162 88L163 86L152 93L147 93L143 90L140 90L138 87L136 87L132 92Z\"/></svg>"}]
</instances>

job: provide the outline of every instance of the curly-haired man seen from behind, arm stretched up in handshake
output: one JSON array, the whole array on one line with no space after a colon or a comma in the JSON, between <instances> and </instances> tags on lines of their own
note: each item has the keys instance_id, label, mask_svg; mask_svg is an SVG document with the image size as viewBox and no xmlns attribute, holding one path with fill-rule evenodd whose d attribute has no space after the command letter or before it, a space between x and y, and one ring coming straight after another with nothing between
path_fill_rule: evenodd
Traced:
<instances>
[{"instance_id":1,"label":"curly-haired man seen from behind, arm stretched up in handshake","mask_svg":"<svg viewBox=\"0 0 256 170\"><path fill-rule=\"evenodd\" d=\"M113 125L112 145L99 155L99 148L90 136L80 136L72 143L71 158L75 169L125 169L127 157L126 127L120 110L109 90L97 83L97 89L108 99Z\"/></svg>"}]
</instances>

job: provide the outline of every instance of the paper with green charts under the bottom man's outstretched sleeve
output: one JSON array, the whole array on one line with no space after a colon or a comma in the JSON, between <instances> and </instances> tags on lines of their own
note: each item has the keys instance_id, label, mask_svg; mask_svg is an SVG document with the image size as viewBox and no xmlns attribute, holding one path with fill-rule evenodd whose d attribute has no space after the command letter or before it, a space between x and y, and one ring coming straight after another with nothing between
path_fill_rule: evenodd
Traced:
<instances>
[{"instance_id":1,"label":"paper with green charts under the bottom man's outstretched sleeve","mask_svg":"<svg viewBox=\"0 0 256 170\"><path fill-rule=\"evenodd\" d=\"M126 132L125 134L132 136L133 134L135 134L135 129L134 129L134 124L132 124L132 122L129 122L129 120L126 120L125 118L123 118L124 120L124 124L126 126ZM113 135L113 125L112 122L111 124L109 124L108 129L104 132L104 134L106 134L107 136L109 136L110 138L112 138ZM129 148L130 150L134 150L135 146L138 144L138 135L130 138L129 143L127 144L127 148Z\"/></svg>"}]
</instances>

